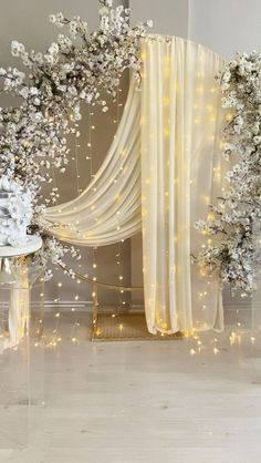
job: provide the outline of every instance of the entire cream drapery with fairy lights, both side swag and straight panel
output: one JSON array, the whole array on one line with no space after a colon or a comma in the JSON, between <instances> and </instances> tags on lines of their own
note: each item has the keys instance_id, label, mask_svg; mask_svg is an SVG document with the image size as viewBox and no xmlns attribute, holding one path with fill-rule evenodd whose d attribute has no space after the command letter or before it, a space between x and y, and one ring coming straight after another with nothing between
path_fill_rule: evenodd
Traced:
<instances>
[{"instance_id":1,"label":"entire cream drapery with fairy lights, both side swag and straight panel","mask_svg":"<svg viewBox=\"0 0 261 463\"><path fill-rule=\"evenodd\" d=\"M192 224L220 188L223 115L213 75L223 60L161 37L146 39L142 55L142 91L132 81L104 164L79 198L49 209L43 223L59 238L86 246L130 237L143 223L149 331L222 329L220 294L191 267L190 254L205 246Z\"/></svg>"}]
</instances>

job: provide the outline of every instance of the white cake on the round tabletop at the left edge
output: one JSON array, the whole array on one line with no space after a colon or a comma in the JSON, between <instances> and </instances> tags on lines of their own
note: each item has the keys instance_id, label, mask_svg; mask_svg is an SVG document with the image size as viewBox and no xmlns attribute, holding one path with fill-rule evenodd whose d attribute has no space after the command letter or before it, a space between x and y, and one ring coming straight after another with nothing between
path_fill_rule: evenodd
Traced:
<instances>
[{"instance_id":1,"label":"white cake on the round tabletop at the left edge","mask_svg":"<svg viewBox=\"0 0 261 463\"><path fill-rule=\"evenodd\" d=\"M31 218L30 193L8 176L0 177L0 246L24 245Z\"/></svg>"}]
</instances>

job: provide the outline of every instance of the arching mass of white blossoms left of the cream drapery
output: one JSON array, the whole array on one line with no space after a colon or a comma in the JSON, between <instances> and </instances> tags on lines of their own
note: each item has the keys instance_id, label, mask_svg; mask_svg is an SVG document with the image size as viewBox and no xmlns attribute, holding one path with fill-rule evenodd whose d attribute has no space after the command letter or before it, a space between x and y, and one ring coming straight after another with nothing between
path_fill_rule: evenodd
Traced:
<instances>
[{"instance_id":1,"label":"arching mass of white blossoms left of the cream drapery","mask_svg":"<svg viewBox=\"0 0 261 463\"><path fill-rule=\"evenodd\" d=\"M12 54L28 69L27 76L15 68L0 69L2 92L22 100L19 107L0 107L0 176L14 179L31 193L31 233L39 233L38 217L43 207L58 200L56 187L42 199L41 186L52 184L50 169L65 171L66 137L79 136L81 103L98 104L106 112L102 94L116 97L126 69L139 76L138 44L148 24L130 28L129 16L129 9L114 9L112 0L101 0L100 29L90 32L79 17L67 20L62 13L51 14L50 21L63 33L45 53L29 52L22 43L12 42ZM63 246L56 240L46 243Z\"/></svg>"}]
</instances>

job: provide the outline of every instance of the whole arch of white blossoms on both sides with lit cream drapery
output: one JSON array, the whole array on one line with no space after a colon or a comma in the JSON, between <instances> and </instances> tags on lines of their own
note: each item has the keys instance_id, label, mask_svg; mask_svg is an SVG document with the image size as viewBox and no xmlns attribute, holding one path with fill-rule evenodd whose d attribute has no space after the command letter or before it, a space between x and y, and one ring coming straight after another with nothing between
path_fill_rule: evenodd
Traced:
<instances>
[{"instance_id":1,"label":"whole arch of white blossoms on both sides with lit cream drapery","mask_svg":"<svg viewBox=\"0 0 261 463\"><path fill-rule=\"evenodd\" d=\"M12 43L12 54L22 59L29 73L0 69L3 91L22 99L19 107L1 109L2 178L31 195L29 229L44 239L35 257L43 265L51 258L65 268L64 254L77 257L74 246L53 236L98 246L129 237L143 224L149 330L222 329L220 290L211 275L232 289L253 289L254 224L260 218L260 55L238 55L226 66L201 45L147 35L149 22L130 28L130 11L114 9L111 0L101 1L100 14L95 32L88 32L80 18L51 16L58 28L69 28L69 35L59 34L45 54ZM213 75L223 68L221 100ZM126 69L133 79L125 113L93 184L75 202L46 209L55 204L58 192L54 186L42 203L41 184L51 183L50 169L65 169L66 136L79 136L81 102L106 112L101 90L115 97ZM221 185L221 102L232 110L225 154L239 158L226 177L231 188ZM220 188L225 195L215 204ZM207 222L197 222L207 215L209 200ZM195 222L202 237L192 232ZM190 255L198 255L200 247L200 266L194 267Z\"/></svg>"}]
</instances>

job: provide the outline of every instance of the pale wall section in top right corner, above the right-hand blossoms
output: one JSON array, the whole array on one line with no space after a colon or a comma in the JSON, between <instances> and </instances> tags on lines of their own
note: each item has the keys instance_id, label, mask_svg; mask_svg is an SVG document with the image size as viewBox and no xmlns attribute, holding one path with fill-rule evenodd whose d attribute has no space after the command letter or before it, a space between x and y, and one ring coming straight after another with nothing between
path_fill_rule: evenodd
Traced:
<instances>
[{"instance_id":1,"label":"pale wall section in top right corner, above the right-hand blossoms","mask_svg":"<svg viewBox=\"0 0 261 463\"><path fill-rule=\"evenodd\" d=\"M261 51L261 0L189 0L189 38L227 59Z\"/></svg>"}]
</instances>

